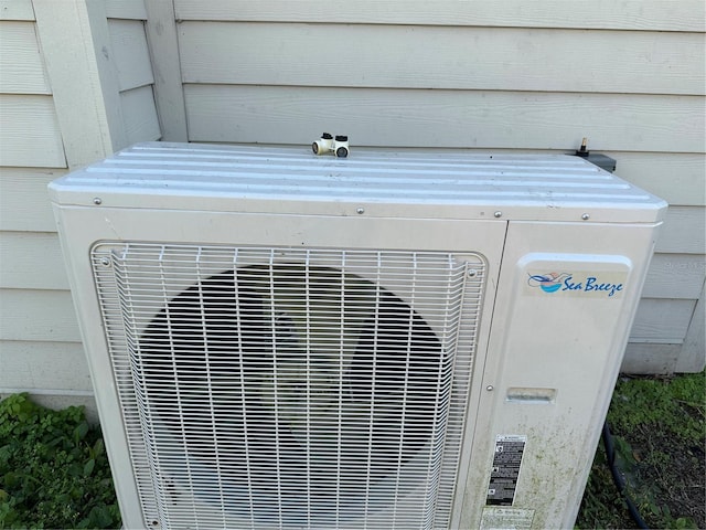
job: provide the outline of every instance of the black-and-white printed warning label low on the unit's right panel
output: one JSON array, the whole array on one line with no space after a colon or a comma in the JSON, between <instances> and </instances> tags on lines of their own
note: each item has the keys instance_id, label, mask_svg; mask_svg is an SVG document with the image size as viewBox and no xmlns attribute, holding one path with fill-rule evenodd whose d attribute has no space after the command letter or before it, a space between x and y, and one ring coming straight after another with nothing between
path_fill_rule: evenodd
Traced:
<instances>
[{"instance_id":1,"label":"black-and-white printed warning label low on the unit's right panel","mask_svg":"<svg viewBox=\"0 0 706 530\"><path fill-rule=\"evenodd\" d=\"M526 442L527 437L520 435L505 434L495 437L495 455L488 485L486 505L512 506Z\"/></svg>"}]
</instances>

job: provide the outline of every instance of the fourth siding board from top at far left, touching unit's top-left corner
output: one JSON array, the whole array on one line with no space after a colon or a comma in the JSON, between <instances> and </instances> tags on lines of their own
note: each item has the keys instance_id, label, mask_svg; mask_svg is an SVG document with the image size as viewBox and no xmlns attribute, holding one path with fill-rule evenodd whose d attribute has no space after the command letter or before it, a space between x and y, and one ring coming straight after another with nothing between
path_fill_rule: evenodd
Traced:
<instances>
[{"instance_id":1,"label":"fourth siding board from top at far left, touching unit's top-left corner","mask_svg":"<svg viewBox=\"0 0 706 530\"><path fill-rule=\"evenodd\" d=\"M0 230L56 230L46 186L65 168L0 168Z\"/></svg>"}]
</instances>

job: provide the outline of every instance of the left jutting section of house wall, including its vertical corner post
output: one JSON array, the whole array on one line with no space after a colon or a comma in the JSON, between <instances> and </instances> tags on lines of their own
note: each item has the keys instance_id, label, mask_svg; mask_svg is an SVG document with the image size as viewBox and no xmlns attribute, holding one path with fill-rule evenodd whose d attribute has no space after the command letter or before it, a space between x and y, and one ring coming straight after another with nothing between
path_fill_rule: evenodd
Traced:
<instances>
[{"instance_id":1,"label":"left jutting section of house wall, including its vertical corner post","mask_svg":"<svg viewBox=\"0 0 706 530\"><path fill-rule=\"evenodd\" d=\"M46 184L161 137L142 0L0 1L0 394L93 390Z\"/></svg>"}]
</instances>

